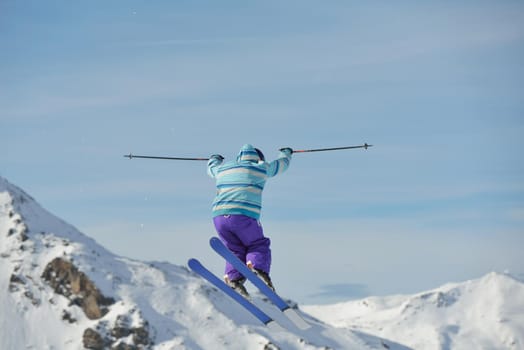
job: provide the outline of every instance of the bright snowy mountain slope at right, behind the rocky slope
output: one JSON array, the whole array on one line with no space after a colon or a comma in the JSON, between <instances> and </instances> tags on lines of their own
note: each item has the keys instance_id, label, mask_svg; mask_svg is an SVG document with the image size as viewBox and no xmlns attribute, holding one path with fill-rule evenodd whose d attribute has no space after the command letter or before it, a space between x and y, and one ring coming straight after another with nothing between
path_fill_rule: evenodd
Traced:
<instances>
[{"instance_id":1,"label":"bright snowy mountain slope at right, behind the rocky slope","mask_svg":"<svg viewBox=\"0 0 524 350\"><path fill-rule=\"evenodd\" d=\"M504 274L413 296L366 298L303 309L413 349L524 349L524 283Z\"/></svg>"}]
</instances>

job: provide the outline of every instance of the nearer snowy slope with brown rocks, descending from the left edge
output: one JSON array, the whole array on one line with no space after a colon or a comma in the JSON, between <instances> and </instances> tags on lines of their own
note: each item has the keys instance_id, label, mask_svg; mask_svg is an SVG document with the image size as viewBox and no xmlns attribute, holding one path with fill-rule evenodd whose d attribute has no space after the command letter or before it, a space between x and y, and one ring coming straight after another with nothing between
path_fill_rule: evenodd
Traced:
<instances>
[{"instance_id":1,"label":"nearer snowy slope with brown rocks, descending from the left edge","mask_svg":"<svg viewBox=\"0 0 524 350\"><path fill-rule=\"evenodd\" d=\"M185 267L116 256L0 177L0 349L406 349L262 298L272 331ZM300 312L300 310L299 310Z\"/></svg>"}]
</instances>

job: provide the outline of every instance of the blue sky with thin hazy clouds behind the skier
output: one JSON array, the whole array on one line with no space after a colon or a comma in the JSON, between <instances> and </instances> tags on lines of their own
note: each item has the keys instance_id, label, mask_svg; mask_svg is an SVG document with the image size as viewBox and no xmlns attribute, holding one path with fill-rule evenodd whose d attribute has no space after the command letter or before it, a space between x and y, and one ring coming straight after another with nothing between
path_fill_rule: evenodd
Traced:
<instances>
[{"instance_id":1,"label":"blue sky with thin hazy clouds behind the skier","mask_svg":"<svg viewBox=\"0 0 524 350\"><path fill-rule=\"evenodd\" d=\"M524 273L520 1L2 1L0 175L115 253L216 273L205 163L295 154L262 222L304 303Z\"/></svg>"}]
</instances>

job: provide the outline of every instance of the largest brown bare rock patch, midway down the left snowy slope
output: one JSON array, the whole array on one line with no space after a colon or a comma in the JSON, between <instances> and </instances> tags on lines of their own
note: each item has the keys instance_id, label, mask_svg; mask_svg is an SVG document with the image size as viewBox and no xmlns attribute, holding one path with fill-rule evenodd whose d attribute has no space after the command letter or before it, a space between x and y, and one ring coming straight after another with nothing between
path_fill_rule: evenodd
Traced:
<instances>
[{"instance_id":1,"label":"largest brown bare rock patch, midway down the left snowy slope","mask_svg":"<svg viewBox=\"0 0 524 350\"><path fill-rule=\"evenodd\" d=\"M69 298L84 310L91 320L103 317L113 298L102 295L96 285L71 262L55 258L47 264L42 278L56 293Z\"/></svg>"}]
</instances>

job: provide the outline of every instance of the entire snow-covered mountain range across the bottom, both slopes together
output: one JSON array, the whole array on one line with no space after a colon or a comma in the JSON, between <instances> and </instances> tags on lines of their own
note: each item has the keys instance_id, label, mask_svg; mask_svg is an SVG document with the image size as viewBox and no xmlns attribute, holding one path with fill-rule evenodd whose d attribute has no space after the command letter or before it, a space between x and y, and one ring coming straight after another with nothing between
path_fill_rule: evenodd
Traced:
<instances>
[{"instance_id":1,"label":"entire snow-covered mountain range across the bottom, both slopes together","mask_svg":"<svg viewBox=\"0 0 524 350\"><path fill-rule=\"evenodd\" d=\"M505 275L302 306L305 331L254 301L281 330L186 267L114 255L0 177L1 350L524 348L524 284Z\"/></svg>"}]
</instances>

